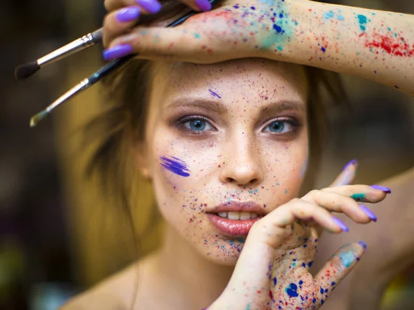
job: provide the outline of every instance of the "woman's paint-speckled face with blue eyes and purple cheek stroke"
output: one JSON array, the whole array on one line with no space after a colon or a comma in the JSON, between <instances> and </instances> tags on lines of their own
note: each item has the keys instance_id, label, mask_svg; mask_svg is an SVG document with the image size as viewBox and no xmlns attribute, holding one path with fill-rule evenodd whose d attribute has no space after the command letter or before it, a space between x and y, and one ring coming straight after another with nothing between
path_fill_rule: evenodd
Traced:
<instances>
[{"instance_id":1,"label":"woman's paint-speckled face with blue eyes and purple cheek stroke","mask_svg":"<svg viewBox=\"0 0 414 310\"><path fill-rule=\"evenodd\" d=\"M200 254L235 265L251 225L302 184L304 69L239 59L154 72L146 167L159 209Z\"/></svg>"}]
</instances>

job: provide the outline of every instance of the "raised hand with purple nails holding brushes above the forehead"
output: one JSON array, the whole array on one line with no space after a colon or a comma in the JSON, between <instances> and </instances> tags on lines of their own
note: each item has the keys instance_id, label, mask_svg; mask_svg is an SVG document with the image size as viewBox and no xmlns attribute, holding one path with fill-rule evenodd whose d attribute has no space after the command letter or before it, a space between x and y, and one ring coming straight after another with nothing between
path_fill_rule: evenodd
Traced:
<instances>
[{"instance_id":1,"label":"raised hand with purple nails holding brushes above the forehead","mask_svg":"<svg viewBox=\"0 0 414 310\"><path fill-rule=\"evenodd\" d=\"M280 19L283 11L287 20L288 1L275 0L272 8L266 1L244 1L244 6L238 6L235 0L224 1L220 3L220 8L197 14L175 28L147 25L131 30L135 20L119 21L117 16L124 9L117 9L133 1L106 0L106 8L112 12L103 25L104 43L108 46L104 59L139 53L139 59L215 63L260 56L268 48L267 45L282 38L278 30L284 31L279 27L283 21L275 21L273 12L277 12L277 19ZM186 2L194 7L190 1Z\"/></svg>"}]
</instances>

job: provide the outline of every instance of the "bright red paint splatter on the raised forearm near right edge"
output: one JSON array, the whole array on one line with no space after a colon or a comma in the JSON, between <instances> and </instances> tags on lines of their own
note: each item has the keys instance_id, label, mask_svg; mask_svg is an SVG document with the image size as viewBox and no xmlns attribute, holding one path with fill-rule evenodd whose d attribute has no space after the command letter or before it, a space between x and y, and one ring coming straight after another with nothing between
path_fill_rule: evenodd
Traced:
<instances>
[{"instance_id":1,"label":"bright red paint splatter on the raised forearm near right edge","mask_svg":"<svg viewBox=\"0 0 414 310\"><path fill-rule=\"evenodd\" d=\"M359 35L361 37L361 35ZM366 48L381 48L387 54L393 56L414 56L414 44L410 45L402 37L391 37L384 34L374 33L372 38L366 39Z\"/></svg>"}]
</instances>

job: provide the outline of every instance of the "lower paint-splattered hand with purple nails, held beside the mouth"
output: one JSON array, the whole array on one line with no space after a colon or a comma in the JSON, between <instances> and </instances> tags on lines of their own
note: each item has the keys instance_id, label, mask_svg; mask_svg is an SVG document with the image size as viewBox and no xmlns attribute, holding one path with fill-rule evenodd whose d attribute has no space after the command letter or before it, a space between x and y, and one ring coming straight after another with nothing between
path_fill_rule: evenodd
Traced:
<instances>
[{"instance_id":1,"label":"lower paint-splattered hand with purple nails, held beside the mouth","mask_svg":"<svg viewBox=\"0 0 414 310\"><path fill-rule=\"evenodd\" d=\"M355 164L348 165L334 185L351 183ZM355 200L377 203L388 192L367 185L328 187L271 211L253 225L228 286L208 310L318 309L366 249L361 241L344 245L315 277L308 272L322 229L348 230L329 211L370 223L375 216Z\"/></svg>"}]
</instances>

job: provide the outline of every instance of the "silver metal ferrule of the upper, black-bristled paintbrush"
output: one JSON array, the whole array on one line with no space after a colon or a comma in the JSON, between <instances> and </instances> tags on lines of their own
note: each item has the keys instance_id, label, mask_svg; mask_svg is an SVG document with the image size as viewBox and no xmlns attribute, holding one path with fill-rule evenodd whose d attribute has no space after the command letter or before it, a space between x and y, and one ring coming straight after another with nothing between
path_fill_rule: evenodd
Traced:
<instances>
[{"instance_id":1,"label":"silver metal ferrule of the upper, black-bristled paintbrush","mask_svg":"<svg viewBox=\"0 0 414 310\"><path fill-rule=\"evenodd\" d=\"M60 59L69 56L70 54L75 54L80 52L81 50L85 50L86 48L90 48L91 46L95 45L95 37L91 33L84 35L83 37L72 41L65 46L37 59L38 65L45 65L47 63L53 63L55 61L59 61Z\"/></svg>"}]
</instances>

